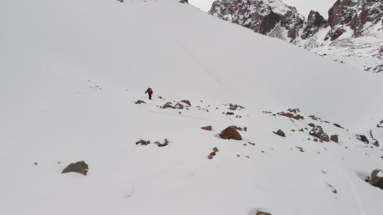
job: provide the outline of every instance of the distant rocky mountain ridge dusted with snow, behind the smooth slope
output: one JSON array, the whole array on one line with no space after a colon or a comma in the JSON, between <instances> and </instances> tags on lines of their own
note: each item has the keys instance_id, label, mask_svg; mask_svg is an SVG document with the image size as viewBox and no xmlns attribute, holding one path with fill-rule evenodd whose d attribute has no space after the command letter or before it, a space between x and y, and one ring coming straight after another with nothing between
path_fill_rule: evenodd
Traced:
<instances>
[{"instance_id":1,"label":"distant rocky mountain ridge dusted with snow, behind the smooth slope","mask_svg":"<svg viewBox=\"0 0 383 215\"><path fill-rule=\"evenodd\" d=\"M305 19L281 0L214 1L209 13L335 61L383 72L383 1L338 0L328 20L316 11Z\"/></svg>"}]
</instances>

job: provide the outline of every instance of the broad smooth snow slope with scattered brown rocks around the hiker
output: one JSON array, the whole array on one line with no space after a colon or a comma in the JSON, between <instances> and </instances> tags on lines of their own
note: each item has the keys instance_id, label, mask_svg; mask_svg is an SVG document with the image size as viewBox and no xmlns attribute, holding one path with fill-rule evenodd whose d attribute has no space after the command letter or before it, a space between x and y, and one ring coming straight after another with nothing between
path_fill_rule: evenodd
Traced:
<instances>
[{"instance_id":1,"label":"broad smooth snow slope with scattered brown rocks around the hiker","mask_svg":"<svg viewBox=\"0 0 383 215\"><path fill-rule=\"evenodd\" d=\"M178 0L4 0L0 29L0 214L382 213L383 77Z\"/></svg>"}]
</instances>

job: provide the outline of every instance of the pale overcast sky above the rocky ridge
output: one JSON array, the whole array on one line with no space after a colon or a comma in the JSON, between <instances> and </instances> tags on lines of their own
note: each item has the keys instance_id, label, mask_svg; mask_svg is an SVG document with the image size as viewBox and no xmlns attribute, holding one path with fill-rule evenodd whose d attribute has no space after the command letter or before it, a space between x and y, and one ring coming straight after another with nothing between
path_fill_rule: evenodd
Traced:
<instances>
[{"instance_id":1,"label":"pale overcast sky above the rocky ridge","mask_svg":"<svg viewBox=\"0 0 383 215\"><path fill-rule=\"evenodd\" d=\"M211 3L214 0L189 0L190 4L193 4L196 7L201 8L203 11L209 11L211 8ZM328 9L333 6L336 0L282 0L286 4L295 6L296 9L302 15L306 16L309 14L310 10L319 11L325 18L327 18Z\"/></svg>"}]
</instances>

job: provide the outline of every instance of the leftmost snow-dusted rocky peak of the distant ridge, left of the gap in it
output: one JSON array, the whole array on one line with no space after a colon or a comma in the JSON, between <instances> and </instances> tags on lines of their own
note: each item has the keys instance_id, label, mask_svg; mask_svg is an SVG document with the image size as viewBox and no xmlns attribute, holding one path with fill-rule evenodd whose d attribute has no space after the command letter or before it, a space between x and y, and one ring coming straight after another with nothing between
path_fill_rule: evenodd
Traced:
<instances>
[{"instance_id":1,"label":"leftmost snow-dusted rocky peak of the distant ridge, left of the gap in it","mask_svg":"<svg viewBox=\"0 0 383 215\"><path fill-rule=\"evenodd\" d=\"M296 8L280 0L218 0L213 2L209 13L284 40L295 40L304 25L304 17Z\"/></svg>"}]
</instances>

